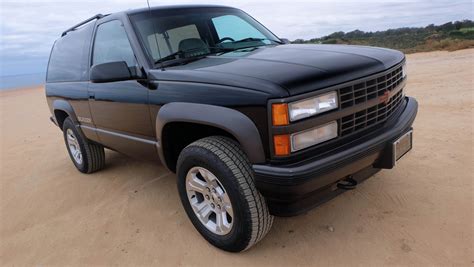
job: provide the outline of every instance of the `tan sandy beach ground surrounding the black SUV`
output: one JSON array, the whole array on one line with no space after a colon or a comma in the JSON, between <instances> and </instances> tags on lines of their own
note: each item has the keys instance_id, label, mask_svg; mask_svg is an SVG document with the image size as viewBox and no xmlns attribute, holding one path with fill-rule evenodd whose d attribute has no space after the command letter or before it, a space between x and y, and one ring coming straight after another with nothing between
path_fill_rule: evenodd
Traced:
<instances>
[{"instance_id":1,"label":"tan sandy beach ground surrounding the black SUV","mask_svg":"<svg viewBox=\"0 0 474 267\"><path fill-rule=\"evenodd\" d=\"M470 266L474 50L409 55L408 73L413 151L240 254L194 230L174 174L112 151L80 174L44 90L0 92L0 265Z\"/></svg>"}]
</instances>

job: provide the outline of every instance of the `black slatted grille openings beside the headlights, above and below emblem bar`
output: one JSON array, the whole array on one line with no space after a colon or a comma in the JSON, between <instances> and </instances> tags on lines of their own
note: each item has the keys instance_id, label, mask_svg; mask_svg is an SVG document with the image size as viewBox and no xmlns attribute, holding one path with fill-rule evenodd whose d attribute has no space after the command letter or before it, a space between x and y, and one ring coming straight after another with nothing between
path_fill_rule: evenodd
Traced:
<instances>
[{"instance_id":1,"label":"black slatted grille openings beside the headlights, above and below emblem bar","mask_svg":"<svg viewBox=\"0 0 474 267\"><path fill-rule=\"evenodd\" d=\"M394 90L403 82L402 76L402 66L399 66L381 76L339 89L341 110L382 97L387 91ZM361 131L387 120L396 111L402 99L403 91L400 90L395 95L392 95L387 103L378 103L342 117L338 120L340 136Z\"/></svg>"}]
</instances>

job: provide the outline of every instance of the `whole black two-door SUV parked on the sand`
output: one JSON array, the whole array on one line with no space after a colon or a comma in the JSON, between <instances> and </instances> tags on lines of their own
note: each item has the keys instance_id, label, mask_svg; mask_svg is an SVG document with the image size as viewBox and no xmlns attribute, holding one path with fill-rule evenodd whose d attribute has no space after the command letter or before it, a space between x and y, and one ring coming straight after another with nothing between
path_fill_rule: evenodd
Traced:
<instances>
[{"instance_id":1,"label":"whole black two-door SUV parked on the sand","mask_svg":"<svg viewBox=\"0 0 474 267\"><path fill-rule=\"evenodd\" d=\"M196 229L248 249L273 216L309 210L412 147L405 56L292 45L241 10L168 6L96 15L62 33L46 96L72 162L104 148L177 173Z\"/></svg>"}]
</instances>

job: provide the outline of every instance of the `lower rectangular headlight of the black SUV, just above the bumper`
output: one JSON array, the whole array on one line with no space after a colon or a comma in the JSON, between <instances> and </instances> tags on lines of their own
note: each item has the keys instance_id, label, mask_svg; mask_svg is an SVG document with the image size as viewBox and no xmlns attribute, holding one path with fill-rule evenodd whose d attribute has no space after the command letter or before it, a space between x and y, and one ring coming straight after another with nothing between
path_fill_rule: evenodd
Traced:
<instances>
[{"instance_id":1,"label":"lower rectangular headlight of the black SUV, just above the bumper","mask_svg":"<svg viewBox=\"0 0 474 267\"><path fill-rule=\"evenodd\" d=\"M337 137L337 122L332 121L291 135L291 152L307 148Z\"/></svg>"}]
</instances>

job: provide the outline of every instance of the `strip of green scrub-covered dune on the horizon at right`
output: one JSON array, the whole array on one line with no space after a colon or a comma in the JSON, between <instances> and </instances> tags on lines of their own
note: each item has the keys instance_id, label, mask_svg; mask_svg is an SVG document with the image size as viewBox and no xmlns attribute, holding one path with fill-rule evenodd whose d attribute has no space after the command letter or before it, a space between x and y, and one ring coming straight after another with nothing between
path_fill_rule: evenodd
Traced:
<instances>
[{"instance_id":1,"label":"strip of green scrub-covered dune on the horizon at right","mask_svg":"<svg viewBox=\"0 0 474 267\"><path fill-rule=\"evenodd\" d=\"M463 20L420 28L398 28L386 31L335 32L310 40L297 39L296 44L351 44L393 48L405 53L434 50L454 51L474 47L474 22Z\"/></svg>"}]
</instances>

